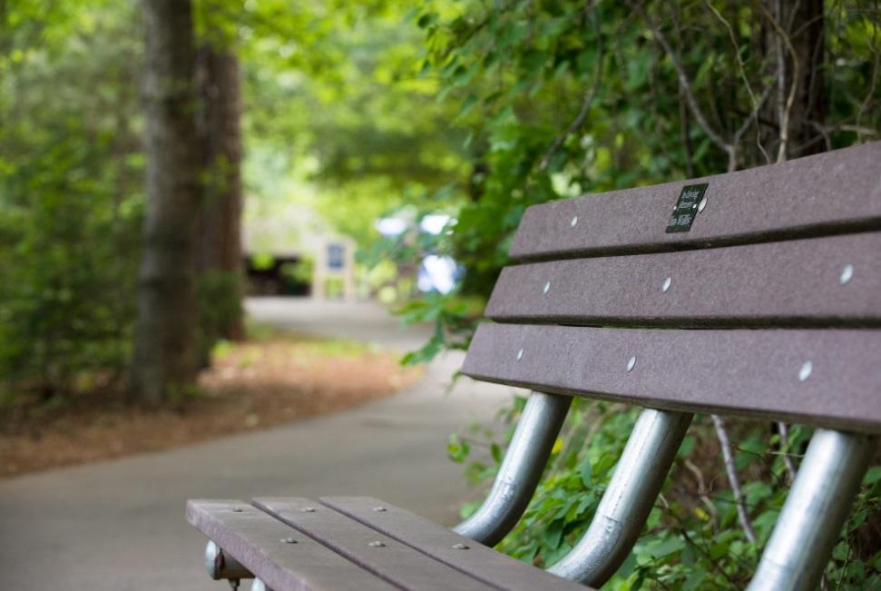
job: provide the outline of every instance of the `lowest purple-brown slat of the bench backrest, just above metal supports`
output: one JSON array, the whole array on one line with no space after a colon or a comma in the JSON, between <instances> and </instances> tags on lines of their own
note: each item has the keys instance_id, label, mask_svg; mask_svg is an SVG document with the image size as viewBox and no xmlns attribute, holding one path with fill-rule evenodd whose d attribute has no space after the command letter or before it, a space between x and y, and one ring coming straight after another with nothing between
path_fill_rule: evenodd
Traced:
<instances>
[{"instance_id":1,"label":"lowest purple-brown slat of the bench backrest, just above metal supports","mask_svg":"<svg viewBox=\"0 0 881 591\"><path fill-rule=\"evenodd\" d=\"M881 431L881 330L487 323L477 330L462 371L645 407Z\"/></svg>"}]
</instances>

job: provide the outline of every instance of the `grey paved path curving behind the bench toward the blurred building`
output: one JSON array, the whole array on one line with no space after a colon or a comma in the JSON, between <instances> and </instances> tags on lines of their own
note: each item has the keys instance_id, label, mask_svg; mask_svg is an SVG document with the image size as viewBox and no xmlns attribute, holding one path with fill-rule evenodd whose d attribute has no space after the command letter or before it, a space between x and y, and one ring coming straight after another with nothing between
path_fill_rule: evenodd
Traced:
<instances>
[{"instance_id":1,"label":"grey paved path curving behind the bench toward the blurred building","mask_svg":"<svg viewBox=\"0 0 881 591\"><path fill-rule=\"evenodd\" d=\"M426 327L400 330L371 304L251 300L249 313L292 329L399 350ZM462 379L448 355L392 399L259 433L168 452L0 480L0 588L221 591L205 574L205 539L183 518L188 497L346 494L381 497L452 525L475 498L445 457L449 433L494 417L513 390Z\"/></svg>"}]
</instances>

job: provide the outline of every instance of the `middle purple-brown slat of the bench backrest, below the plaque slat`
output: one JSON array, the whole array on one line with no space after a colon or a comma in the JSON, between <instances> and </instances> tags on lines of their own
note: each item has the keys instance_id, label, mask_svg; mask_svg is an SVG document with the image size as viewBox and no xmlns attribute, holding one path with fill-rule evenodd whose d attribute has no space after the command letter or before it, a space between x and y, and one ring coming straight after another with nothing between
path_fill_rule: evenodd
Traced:
<instances>
[{"instance_id":1,"label":"middle purple-brown slat of the bench backrest, below the plaque slat","mask_svg":"<svg viewBox=\"0 0 881 591\"><path fill-rule=\"evenodd\" d=\"M881 233L507 267L486 316L595 325L878 326Z\"/></svg>"}]
</instances>

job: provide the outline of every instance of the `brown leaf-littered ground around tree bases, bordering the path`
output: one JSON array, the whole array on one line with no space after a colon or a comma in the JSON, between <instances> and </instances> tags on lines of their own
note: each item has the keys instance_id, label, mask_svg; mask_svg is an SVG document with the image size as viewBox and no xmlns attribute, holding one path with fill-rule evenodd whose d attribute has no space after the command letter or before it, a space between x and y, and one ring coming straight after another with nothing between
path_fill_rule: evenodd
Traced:
<instances>
[{"instance_id":1,"label":"brown leaf-littered ground around tree bases, bordering the path","mask_svg":"<svg viewBox=\"0 0 881 591\"><path fill-rule=\"evenodd\" d=\"M348 409L394 394L419 370L367 345L273 335L224 344L202 372L198 396L160 409L126 404L118 392L33 399L0 409L0 478L174 448L293 419Z\"/></svg>"}]
</instances>

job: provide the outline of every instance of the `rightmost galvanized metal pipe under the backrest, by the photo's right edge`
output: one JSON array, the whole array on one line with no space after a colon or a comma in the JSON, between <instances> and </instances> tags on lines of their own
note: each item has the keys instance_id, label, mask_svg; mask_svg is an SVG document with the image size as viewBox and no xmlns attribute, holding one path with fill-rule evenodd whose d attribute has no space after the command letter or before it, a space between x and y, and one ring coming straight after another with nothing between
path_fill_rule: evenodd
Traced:
<instances>
[{"instance_id":1,"label":"rightmost galvanized metal pipe under the backrest, by the photo's right edge","mask_svg":"<svg viewBox=\"0 0 881 591\"><path fill-rule=\"evenodd\" d=\"M817 429L749 591L817 587L876 445L871 436Z\"/></svg>"}]
</instances>

